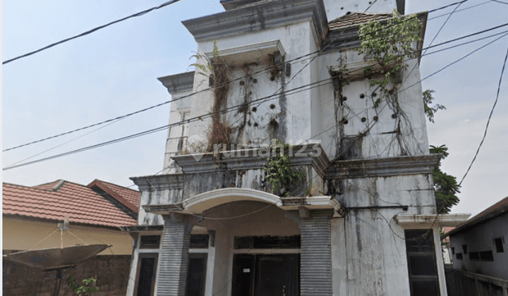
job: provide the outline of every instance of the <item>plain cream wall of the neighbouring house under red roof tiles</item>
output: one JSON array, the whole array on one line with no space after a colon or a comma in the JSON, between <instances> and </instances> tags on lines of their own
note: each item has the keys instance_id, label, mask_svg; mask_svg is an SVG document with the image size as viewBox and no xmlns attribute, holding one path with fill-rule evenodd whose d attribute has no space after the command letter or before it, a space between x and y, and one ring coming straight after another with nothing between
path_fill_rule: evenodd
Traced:
<instances>
[{"instance_id":1,"label":"plain cream wall of the neighbouring house under red roof tiles","mask_svg":"<svg viewBox=\"0 0 508 296\"><path fill-rule=\"evenodd\" d=\"M4 250L28 250L37 245L58 229L58 222L35 221L29 218L6 218L2 219L3 249ZM63 231L63 247L74 245L107 244L112 245L109 249L100 252L99 255L131 255L132 238L128 233L102 227L90 227L75 225L69 226L71 232L80 238L73 237L67 231ZM36 249L60 247L60 232L52 234L49 238L37 245Z\"/></svg>"}]
</instances>

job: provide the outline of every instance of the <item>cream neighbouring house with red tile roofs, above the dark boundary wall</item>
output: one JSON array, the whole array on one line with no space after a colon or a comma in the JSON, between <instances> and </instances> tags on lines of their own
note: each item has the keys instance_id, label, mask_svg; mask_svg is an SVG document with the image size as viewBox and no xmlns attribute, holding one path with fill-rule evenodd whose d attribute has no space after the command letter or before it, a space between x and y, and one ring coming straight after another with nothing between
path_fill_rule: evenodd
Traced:
<instances>
[{"instance_id":1,"label":"cream neighbouring house with red tile roofs, above the dark boundary wall","mask_svg":"<svg viewBox=\"0 0 508 296\"><path fill-rule=\"evenodd\" d=\"M94 180L79 185L65 180L25 187L3 183L3 251L28 250L58 229L68 217L70 230L88 245L108 244L100 254L132 254L132 238L120 226L135 225L139 192ZM64 247L84 242L63 232ZM59 233L47 238L37 249L60 247Z\"/></svg>"}]
</instances>

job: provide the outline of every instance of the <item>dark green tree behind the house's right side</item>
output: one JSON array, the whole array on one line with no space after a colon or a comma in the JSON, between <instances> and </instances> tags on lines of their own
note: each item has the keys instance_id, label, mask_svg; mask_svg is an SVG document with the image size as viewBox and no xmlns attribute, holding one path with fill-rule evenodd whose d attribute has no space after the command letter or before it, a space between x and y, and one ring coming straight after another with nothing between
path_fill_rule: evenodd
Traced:
<instances>
[{"instance_id":1,"label":"dark green tree behind the house's right side","mask_svg":"<svg viewBox=\"0 0 508 296\"><path fill-rule=\"evenodd\" d=\"M441 153L442 160L448 156L448 147L445 145L439 147L430 145L430 153ZM448 214L452 206L459 203L459 197L456 194L460 193L460 186L453 175L441 171L441 161L434 168L433 177L437 213Z\"/></svg>"}]
</instances>

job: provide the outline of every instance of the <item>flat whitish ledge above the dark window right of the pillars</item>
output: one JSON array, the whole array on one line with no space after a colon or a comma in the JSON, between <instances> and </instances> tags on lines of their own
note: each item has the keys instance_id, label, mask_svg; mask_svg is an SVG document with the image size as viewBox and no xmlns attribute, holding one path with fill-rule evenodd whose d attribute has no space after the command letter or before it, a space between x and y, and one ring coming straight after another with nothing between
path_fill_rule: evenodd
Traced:
<instances>
[{"instance_id":1,"label":"flat whitish ledge above the dark window right of the pillars","mask_svg":"<svg viewBox=\"0 0 508 296\"><path fill-rule=\"evenodd\" d=\"M471 214L445 215L396 215L394 220L402 228L430 228L432 226L457 226L467 221Z\"/></svg>"}]
</instances>

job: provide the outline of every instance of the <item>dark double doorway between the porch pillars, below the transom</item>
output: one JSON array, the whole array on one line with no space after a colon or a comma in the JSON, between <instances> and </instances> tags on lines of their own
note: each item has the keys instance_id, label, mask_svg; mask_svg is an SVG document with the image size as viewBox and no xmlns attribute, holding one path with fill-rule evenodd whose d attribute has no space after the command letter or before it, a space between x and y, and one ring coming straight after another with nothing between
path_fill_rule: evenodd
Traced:
<instances>
[{"instance_id":1,"label":"dark double doorway between the porch pillars, below the transom","mask_svg":"<svg viewBox=\"0 0 508 296\"><path fill-rule=\"evenodd\" d=\"M236 254L233 296L298 296L300 255Z\"/></svg>"}]
</instances>

